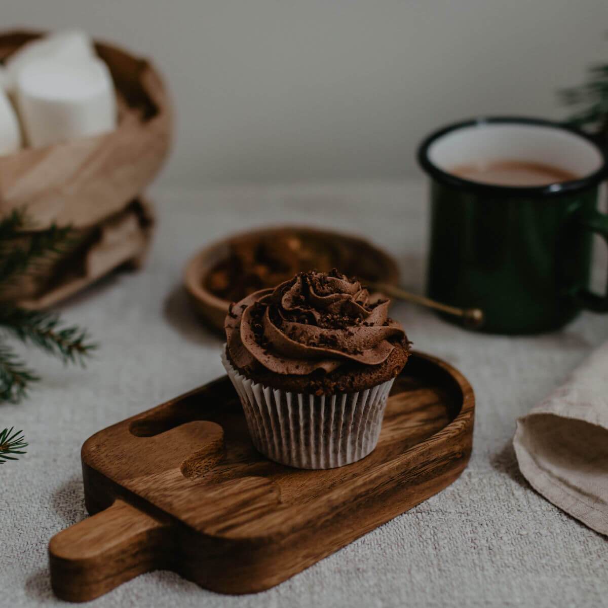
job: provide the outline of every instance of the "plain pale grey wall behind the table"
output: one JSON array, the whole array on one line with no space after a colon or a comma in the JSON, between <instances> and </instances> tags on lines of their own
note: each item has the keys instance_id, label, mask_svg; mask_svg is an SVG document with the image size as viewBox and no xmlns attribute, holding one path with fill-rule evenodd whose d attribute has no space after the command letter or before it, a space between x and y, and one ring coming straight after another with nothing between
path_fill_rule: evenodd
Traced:
<instances>
[{"instance_id":1,"label":"plain pale grey wall behind the table","mask_svg":"<svg viewBox=\"0 0 608 608\"><path fill-rule=\"evenodd\" d=\"M556 89L608 60L606 0L0 0L0 19L153 58L178 118L165 183L415 174L435 126L560 118Z\"/></svg>"}]
</instances>

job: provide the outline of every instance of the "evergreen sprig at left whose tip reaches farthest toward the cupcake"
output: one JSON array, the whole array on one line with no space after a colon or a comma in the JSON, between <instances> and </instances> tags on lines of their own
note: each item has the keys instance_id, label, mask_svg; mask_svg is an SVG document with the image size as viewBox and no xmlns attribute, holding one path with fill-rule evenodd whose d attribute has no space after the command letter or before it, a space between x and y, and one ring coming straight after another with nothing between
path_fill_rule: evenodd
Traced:
<instances>
[{"instance_id":1,"label":"evergreen sprig at left whose tip reaches farthest toward the cupcake","mask_svg":"<svg viewBox=\"0 0 608 608\"><path fill-rule=\"evenodd\" d=\"M64 363L79 363L97 345L89 342L86 330L76 325L62 326L57 314L0 306L0 326L15 334L25 344L32 344L58 356Z\"/></svg>"}]
</instances>

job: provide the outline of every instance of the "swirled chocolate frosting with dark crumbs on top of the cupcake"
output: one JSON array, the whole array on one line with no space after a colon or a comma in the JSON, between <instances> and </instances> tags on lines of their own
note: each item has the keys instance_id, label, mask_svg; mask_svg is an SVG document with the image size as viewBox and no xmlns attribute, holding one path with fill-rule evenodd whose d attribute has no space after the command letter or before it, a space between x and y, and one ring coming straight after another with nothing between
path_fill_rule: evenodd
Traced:
<instances>
[{"instance_id":1,"label":"swirled chocolate frosting with dark crumbs on top of the cupcake","mask_svg":"<svg viewBox=\"0 0 608 608\"><path fill-rule=\"evenodd\" d=\"M278 374L379 365L406 340L388 310L389 300L370 302L361 283L337 271L302 272L233 305L224 324L227 347L237 367L259 364Z\"/></svg>"}]
</instances>

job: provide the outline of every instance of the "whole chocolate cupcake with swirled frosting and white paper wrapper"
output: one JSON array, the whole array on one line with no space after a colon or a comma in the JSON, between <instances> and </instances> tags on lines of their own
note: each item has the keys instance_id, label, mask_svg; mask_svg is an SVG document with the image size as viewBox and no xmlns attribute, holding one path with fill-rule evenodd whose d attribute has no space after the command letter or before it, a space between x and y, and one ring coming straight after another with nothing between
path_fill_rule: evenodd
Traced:
<instances>
[{"instance_id":1,"label":"whole chocolate cupcake with swirled frosting and white paper wrapper","mask_svg":"<svg viewBox=\"0 0 608 608\"><path fill-rule=\"evenodd\" d=\"M330 469L376 447L409 356L388 308L337 271L302 272L230 308L222 359L258 451L284 465Z\"/></svg>"}]
</instances>

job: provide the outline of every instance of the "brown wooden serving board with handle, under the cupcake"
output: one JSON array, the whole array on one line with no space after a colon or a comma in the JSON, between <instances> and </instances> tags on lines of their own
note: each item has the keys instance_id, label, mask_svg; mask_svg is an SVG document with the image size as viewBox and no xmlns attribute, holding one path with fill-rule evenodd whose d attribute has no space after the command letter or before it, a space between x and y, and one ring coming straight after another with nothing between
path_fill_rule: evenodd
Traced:
<instances>
[{"instance_id":1,"label":"brown wooden serving board with handle, under the cupcake","mask_svg":"<svg viewBox=\"0 0 608 608\"><path fill-rule=\"evenodd\" d=\"M325 471L255 451L226 376L114 424L83 445L94 515L51 539L52 587L87 601L168 569L218 592L268 589L452 483L474 401L457 370L414 353L375 451Z\"/></svg>"}]
</instances>

